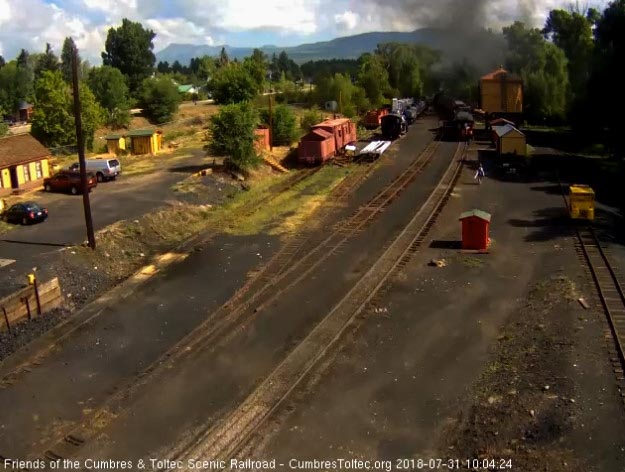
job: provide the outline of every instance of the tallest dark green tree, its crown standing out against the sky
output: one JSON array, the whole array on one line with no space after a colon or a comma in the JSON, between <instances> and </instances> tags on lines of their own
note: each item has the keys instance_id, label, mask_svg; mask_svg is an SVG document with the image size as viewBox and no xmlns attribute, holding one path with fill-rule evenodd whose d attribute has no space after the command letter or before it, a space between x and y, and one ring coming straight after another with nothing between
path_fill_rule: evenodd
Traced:
<instances>
[{"instance_id":1,"label":"tallest dark green tree, its crown standing out against the sky","mask_svg":"<svg viewBox=\"0 0 625 472\"><path fill-rule=\"evenodd\" d=\"M122 25L108 31L102 63L116 67L128 80L132 94L136 93L142 81L149 77L156 58L153 39L156 35L141 23L124 18Z\"/></svg>"}]
</instances>

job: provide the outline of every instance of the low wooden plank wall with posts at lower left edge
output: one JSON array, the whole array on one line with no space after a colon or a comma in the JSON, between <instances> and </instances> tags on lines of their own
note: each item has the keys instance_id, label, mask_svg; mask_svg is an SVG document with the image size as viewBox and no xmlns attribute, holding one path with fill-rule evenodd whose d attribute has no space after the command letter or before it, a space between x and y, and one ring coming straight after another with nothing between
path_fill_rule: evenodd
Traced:
<instances>
[{"instance_id":1,"label":"low wooden plank wall with posts at lower left edge","mask_svg":"<svg viewBox=\"0 0 625 472\"><path fill-rule=\"evenodd\" d=\"M0 299L0 331L11 330L13 326L33 319L61 306L63 296L59 279L29 285Z\"/></svg>"}]
</instances>

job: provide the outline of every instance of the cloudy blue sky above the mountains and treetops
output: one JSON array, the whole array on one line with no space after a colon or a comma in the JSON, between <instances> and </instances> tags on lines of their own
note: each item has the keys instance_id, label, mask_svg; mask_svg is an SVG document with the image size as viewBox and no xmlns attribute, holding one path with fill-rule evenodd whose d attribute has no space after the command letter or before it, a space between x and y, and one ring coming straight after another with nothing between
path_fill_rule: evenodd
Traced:
<instances>
[{"instance_id":1,"label":"cloudy blue sky above the mountains and treetops","mask_svg":"<svg viewBox=\"0 0 625 472\"><path fill-rule=\"evenodd\" d=\"M21 48L59 52L66 36L81 55L100 63L106 33L122 18L157 34L155 50L170 43L294 46L369 31L411 31L474 12L480 26L515 18L540 25L566 0L0 0L0 54ZM588 2L602 6L605 0ZM478 11L482 7L482 10Z\"/></svg>"}]
</instances>

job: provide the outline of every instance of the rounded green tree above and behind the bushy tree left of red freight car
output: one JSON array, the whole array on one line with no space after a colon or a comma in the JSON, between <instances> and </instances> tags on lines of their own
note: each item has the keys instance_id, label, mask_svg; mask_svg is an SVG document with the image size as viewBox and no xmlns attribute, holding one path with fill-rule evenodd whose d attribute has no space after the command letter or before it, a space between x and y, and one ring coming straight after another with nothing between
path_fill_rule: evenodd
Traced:
<instances>
[{"instance_id":1,"label":"rounded green tree above and behind the bushy tree left of red freight car","mask_svg":"<svg viewBox=\"0 0 625 472\"><path fill-rule=\"evenodd\" d=\"M215 72L209 85L217 103L245 102L258 95L258 84L241 64L231 62Z\"/></svg>"}]
</instances>

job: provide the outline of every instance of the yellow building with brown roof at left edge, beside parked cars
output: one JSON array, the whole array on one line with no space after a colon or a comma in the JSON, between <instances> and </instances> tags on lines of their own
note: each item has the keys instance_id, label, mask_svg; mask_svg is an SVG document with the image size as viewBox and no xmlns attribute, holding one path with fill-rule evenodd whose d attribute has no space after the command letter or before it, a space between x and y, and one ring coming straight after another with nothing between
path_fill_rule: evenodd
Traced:
<instances>
[{"instance_id":1,"label":"yellow building with brown roof at left edge, beside parked cars","mask_svg":"<svg viewBox=\"0 0 625 472\"><path fill-rule=\"evenodd\" d=\"M50 151L30 134L0 138L0 195L41 185L49 160Z\"/></svg>"}]
</instances>

